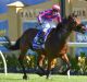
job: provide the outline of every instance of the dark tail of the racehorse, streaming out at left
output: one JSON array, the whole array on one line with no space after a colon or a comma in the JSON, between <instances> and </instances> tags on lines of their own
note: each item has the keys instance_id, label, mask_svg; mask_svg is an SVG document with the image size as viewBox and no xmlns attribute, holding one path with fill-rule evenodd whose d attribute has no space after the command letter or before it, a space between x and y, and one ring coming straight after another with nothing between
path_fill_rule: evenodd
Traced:
<instances>
[{"instance_id":1,"label":"dark tail of the racehorse, streaming out at left","mask_svg":"<svg viewBox=\"0 0 87 82\"><path fill-rule=\"evenodd\" d=\"M8 36L4 36L4 38L7 39L7 44L3 44L3 46L10 50L18 50L20 49L20 40L21 37L15 42L15 44L12 44L10 38Z\"/></svg>"}]
</instances>

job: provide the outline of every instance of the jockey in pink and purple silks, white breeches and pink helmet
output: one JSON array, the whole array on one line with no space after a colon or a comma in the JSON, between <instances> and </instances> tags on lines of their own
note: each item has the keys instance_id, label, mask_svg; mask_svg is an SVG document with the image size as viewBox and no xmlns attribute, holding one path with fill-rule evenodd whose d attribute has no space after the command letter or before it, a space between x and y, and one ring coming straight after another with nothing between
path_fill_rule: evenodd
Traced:
<instances>
[{"instance_id":1,"label":"jockey in pink and purple silks, white breeches and pink helmet","mask_svg":"<svg viewBox=\"0 0 87 82\"><path fill-rule=\"evenodd\" d=\"M46 42L47 35L49 34L51 28L57 27L57 24L61 22L60 11L60 5L53 4L52 9L39 13L37 19L41 30L37 33L36 37L34 38L34 43L39 44L40 36L44 36L44 42ZM44 35L41 35L42 32L45 33Z\"/></svg>"}]
</instances>

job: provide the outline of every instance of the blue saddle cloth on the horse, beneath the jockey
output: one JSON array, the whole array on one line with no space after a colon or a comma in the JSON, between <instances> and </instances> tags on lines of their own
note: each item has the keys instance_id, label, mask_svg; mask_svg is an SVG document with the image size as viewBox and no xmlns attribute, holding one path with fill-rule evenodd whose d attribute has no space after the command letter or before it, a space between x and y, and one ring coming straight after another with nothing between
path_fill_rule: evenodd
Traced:
<instances>
[{"instance_id":1,"label":"blue saddle cloth on the horse, beneath the jockey","mask_svg":"<svg viewBox=\"0 0 87 82\"><path fill-rule=\"evenodd\" d=\"M46 34L44 34L42 31L39 31L33 40L33 48L36 48L36 49L45 48L45 42L50 32L51 32L51 28L49 28L46 32Z\"/></svg>"}]
</instances>

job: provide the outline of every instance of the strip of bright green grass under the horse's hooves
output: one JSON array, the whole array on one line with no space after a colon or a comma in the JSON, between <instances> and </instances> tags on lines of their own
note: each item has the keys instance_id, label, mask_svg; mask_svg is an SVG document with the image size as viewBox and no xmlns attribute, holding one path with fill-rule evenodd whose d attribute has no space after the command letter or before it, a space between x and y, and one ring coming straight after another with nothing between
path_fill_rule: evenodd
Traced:
<instances>
[{"instance_id":1,"label":"strip of bright green grass under the horse's hooves","mask_svg":"<svg viewBox=\"0 0 87 82\"><path fill-rule=\"evenodd\" d=\"M28 80L23 80L23 74L20 73L0 73L0 82L87 82L86 75L51 75L50 80L46 77L39 77L37 74L28 74Z\"/></svg>"}]
</instances>

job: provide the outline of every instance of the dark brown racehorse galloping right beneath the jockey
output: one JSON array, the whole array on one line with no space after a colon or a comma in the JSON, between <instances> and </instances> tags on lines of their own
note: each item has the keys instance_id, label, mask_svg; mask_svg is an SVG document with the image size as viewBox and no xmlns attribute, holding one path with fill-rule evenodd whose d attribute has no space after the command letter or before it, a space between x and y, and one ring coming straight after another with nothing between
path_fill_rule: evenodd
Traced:
<instances>
[{"instance_id":1,"label":"dark brown racehorse galloping right beneath the jockey","mask_svg":"<svg viewBox=\"0 0 87 82\"><path fill-rule=\"evenodd\" d=\"M47 57L47 59L48 59L47 71L45 71L44 69L40 68L42 70L42 73L45 73L47 75L47 79L49 79L49 77L50 77L50 73L52 70L51 62L54 58L60 57L63 61L66 62L66 65L67 65L67 69L65 70L65 72L66 72L71 67L70 60L66 55L66 52L67 52L66 40L73 31L79 32L79 33L85 33L86 30L83 26L83 24L80 24L80 22L78 21L78 19L75 15L69 15L69 16L64 17L63 21L61 23L59 23L55 28L51 30L51 32L49 33L49 35L45 42L45 48L40 48L40 49L33 48L34 37L38 33L37 28L26 30L23 33L23 35L16 40L16 43L14 45L11 45L10 40L8 39L9 44L10 44L9 49L13 49L13 50L21 49L18 60L20 60L20 63L23 68L23 72L24 72L23 79L27 79L23 60L24 60L24 57L28 49L33 49L33 50L37 51L39 62L42 62L42 60L44 60L41 57L42 55L45 57Z\"/></svg>"}]
</instances>

